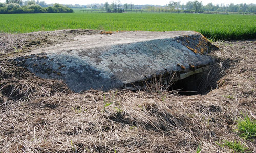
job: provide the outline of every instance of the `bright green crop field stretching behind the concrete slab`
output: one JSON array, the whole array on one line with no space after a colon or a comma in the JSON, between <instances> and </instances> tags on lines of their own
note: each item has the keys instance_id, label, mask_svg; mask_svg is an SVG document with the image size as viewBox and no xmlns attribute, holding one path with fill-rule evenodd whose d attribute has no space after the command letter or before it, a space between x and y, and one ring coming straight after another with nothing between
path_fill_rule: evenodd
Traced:
<instances>
[{"instance_id":1,"label":"bright green crop field stretching behind the concrete slab","mask_svg":"<svg viewBox=\"0 0 256 153\"><path fill-rule=\"evenodd\" d=\"M26 33L60 29L193 30L211 39L255 39L255 15L169 13L0 14L0 31Z\"/></svg>"}]
</instances>

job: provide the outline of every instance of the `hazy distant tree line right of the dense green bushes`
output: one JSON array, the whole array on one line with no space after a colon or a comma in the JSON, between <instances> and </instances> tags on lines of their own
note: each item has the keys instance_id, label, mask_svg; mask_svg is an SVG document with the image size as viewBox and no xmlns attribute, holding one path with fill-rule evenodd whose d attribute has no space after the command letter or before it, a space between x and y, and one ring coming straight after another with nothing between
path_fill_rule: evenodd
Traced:
<instances>
[{"instance_id":1,"label":"hazy distant tree line right of the dense green bushes","mask_svg":"<svg viewBox=\"0 0 256 153\"><path fill-rule=\"evenodd\" d=\"M78 5L71 8L92 8L101 9L106 12L123 12L123 11L150 11L150 12L187 12L187 13L202 13L207 11L218 11L218 12L256 12L256 4L217 4L214 5L209 3L203 5L200 1L188 1L186 4L181 4L179 1L170 1L165 6L160 5L134 5L134 4L120 4L120 1L115 0L111 4L108 2L104 4L90 4L90 5Z\"/></svg>"}]
</instances>

